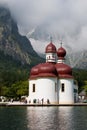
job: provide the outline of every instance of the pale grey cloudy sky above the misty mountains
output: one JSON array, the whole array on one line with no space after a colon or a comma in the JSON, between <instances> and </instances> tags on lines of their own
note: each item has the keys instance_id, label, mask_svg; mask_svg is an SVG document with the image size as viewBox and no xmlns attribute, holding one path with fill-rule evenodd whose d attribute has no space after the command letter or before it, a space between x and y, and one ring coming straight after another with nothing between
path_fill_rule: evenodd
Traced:
<instances>
[{"instance_id":1,"label":"pale grey cloudy sky above the misty mountains","mask_svg":"<svg viewBox=\"0 0 87 130\"><path fill-rule=\"evenodd\" d=\"M87 0L0 0L27 35L39 25L74 49L87 49ZM44 39L45 40L45 39Z\"/></svg>"}]
</instances>

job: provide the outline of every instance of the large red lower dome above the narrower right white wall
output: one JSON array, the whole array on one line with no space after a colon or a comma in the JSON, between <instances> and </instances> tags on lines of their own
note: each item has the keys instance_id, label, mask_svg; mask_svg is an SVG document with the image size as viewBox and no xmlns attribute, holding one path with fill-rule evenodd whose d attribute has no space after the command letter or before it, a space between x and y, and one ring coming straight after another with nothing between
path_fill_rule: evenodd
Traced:
<instances>
[{"instance_id":1,"label":"large red lower dome above the narrower right white wall","mask_svg":"<svg viewBox=\"0 0 87 130\"><path fill-rule=\"evenodd\" d=\"M72 78L72 69L64 63L57 63L55 65L57 73L60 78Z\"/></svg>"}]
</instances>

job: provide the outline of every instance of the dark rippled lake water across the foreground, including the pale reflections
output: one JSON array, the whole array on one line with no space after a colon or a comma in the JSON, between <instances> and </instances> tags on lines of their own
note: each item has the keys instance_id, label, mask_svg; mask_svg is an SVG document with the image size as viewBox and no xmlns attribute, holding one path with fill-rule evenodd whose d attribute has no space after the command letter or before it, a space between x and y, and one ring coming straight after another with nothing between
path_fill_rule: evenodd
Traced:
<instances>
[{"instance_id":1,"label":"dark rippled lake water across the foreground, including the pale reflections","mask_svg":"<svg viewBox=\"0 0 87 130\"><path fill-rule=\"evenodd\" d=\"M0 107L0 130L87 130L87 107Z\"/></svg>"}]
</instances>

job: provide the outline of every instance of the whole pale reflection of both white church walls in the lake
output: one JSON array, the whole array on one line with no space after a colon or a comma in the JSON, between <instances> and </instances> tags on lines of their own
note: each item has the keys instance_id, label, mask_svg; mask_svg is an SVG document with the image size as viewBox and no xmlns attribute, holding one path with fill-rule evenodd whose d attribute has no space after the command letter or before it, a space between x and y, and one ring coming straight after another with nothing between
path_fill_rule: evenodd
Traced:
<instances>
[{"instance_id":1,"label":"whole pale reflection of both white church walls in the lake","mask_svg":"<svg viewBox=\"0 0 87 130\"><path fill-rule=\"evenodd\" d=\"M72 107L27 108L30 130L70 130Z\"/></svg>"}]
</instances>

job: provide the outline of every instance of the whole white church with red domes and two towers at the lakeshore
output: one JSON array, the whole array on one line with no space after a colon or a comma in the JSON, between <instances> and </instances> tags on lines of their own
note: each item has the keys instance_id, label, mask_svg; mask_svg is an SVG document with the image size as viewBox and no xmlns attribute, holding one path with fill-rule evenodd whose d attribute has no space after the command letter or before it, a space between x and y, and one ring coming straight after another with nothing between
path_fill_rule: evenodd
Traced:
<instances>
[{"instance_id":1,"label":"whole white church with red domes and two towers at the lakeshore","mask_svg":"<svg viewBox=\"0 0 87 130\"><path fill-rule=\"evenodd\" d=\"M78 101L78 85L72 68L65 64L66 50L51 41L45 48L46 62L34 66L29 77L29 103L73 104Z\"/></svg>"}]
</instances>

